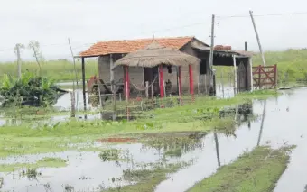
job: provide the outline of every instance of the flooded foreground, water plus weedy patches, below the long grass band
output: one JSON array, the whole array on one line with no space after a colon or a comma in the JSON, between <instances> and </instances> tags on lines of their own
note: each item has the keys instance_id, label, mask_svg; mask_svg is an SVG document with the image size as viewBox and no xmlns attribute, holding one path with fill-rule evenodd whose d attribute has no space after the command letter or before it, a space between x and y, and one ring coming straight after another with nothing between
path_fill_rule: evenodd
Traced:
<instances>
[{"instance_id":1,"label":"flooded foreground, water plus weedy patches, below the long grass band","mask_svg":"<svg viewBox=\"0 0 307 192\"><path fill-rule=\"evenodd\" d=\"M274 192L303 192L307 184L307 179L302 177L307 171L304 166L307 160L307 119L304 114L307 88L283 93L277 98L253 101L252 105L237 105L221 113L222 118L227 112L237 112L237 129L232 133L144 134L142 138L147 137L147 140L106 139L93 145L80 145L74 151L3 158L0 164L6 166L34 164L46 157L65 160L66 166L39 167L35 169L34 177L29 177L26 174L29 170L24 169L2 172L1 190L88 192L108 191L106 188L114 187L118 189L116 191L121 191L121 187L138 182L132 176L131 179L126 177L130 171L162 169L180 164L167 174L168 178L157 181L153 191L181 192L258 145L269 144L277 149L284 144L295 144L297 147L291 153L288 168L277 182ZM110 153L116 150L116 154Z\"/></svg>"}]
</instances>

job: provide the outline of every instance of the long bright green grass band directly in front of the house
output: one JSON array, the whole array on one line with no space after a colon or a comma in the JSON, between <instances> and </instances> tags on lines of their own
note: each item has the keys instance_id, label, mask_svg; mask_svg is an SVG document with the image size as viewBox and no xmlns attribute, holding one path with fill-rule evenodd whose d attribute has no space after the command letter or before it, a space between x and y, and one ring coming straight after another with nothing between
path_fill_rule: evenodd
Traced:
<instances>
[{"instance_id":1,"label":"long bright green grass band directly in front of the house","mask_svg":"<svg viewBox=\"0 0 307 192\"><path fill-rule=\"evenodd\" d=\"M77 121L46 124L31 123L0 127L0 157L76 149L70 143L94 142L118 134L209 132L214 128L233 129L233 118L219 118L217 109L238 105L255 98L276 96L274 91L239 94L230 99L197 98L194 104L144 112L137 121ZM51 147L52 146L52 147Z\"/></svg>"}]
</instances>

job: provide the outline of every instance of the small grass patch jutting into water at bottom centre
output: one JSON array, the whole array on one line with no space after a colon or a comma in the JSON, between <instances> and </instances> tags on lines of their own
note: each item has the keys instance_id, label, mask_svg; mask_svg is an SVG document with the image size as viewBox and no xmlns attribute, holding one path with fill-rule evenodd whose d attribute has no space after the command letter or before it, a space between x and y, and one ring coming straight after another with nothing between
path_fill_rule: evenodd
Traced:
<instances>
[{"instance_id":1,"label":"small grass patch jutting into water at bottom centre","mask_svg":"<svg viewBox=\"0 0 307 192\"><path fill-rule=\"evenodd\" d=\"M103 192L153 192L154 188L167 178L167 174L176 172L182 166L184 166L182 163L178 163L158 166L154 169L126 170L124 172L125 180L136 181L135 185L121 187L119 190L118 188L108 188Z\"/></svg>"}]
</instances>

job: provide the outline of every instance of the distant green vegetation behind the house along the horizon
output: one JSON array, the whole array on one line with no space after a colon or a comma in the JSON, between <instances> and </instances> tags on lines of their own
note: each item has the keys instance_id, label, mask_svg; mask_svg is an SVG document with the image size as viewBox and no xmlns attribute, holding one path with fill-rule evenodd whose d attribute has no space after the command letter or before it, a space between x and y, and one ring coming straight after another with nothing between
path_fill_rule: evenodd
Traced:
<instances>
[{"instance_id":1,"label":"distant green vegetation behind the house along the horizon","mask_svg":"<svg viewBox=\"0 0 307 192\"><path fill-rule=\"evenodd\" d=\"M266 51L265 52L266 65L278 66L278 80L281 81L296 81L307 80L307 50L285 50L285 51ZM254 56L253 64L260 65L262 60L259 54ZM4 74L11 74L17 76L17 64L0 63L0 79ZM33 62L23 62L23 71L29 69L30 71L38 71L37 64ZM86 59L86 78L98 74L98 61L94 59ZM227 77L228 72L232 69L227 67L217 68L217 74L220 76L220 71L223 70L223 76ZM81 79L81 64L77 61L78 77ZM42 76L54 78L59 81L70 81L75 79L73 73L73 64L69 61L54 60L42 63ZM288 74L288 76L286 75Z\"/></svg>"}]
</instances>

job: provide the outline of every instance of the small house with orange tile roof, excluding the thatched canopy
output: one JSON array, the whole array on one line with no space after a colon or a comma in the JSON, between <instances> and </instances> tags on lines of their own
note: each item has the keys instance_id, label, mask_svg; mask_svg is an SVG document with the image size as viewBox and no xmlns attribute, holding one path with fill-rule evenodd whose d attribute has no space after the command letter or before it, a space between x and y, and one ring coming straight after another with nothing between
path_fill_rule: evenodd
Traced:
<instances>
[{"instance_id":1,"label":"small house with orange tile roof, excluding the thatched canopy","mask_svg":"<svg viewBox=\"0 0 307 192\"><path fill-rule=\"evenodd\" d=\"M155 39L157 43L164 47L170 47L175 50L181 50L182 52L191 54L201 59L199 65L195 65L192 68L193 72L193 84L194 89L199 90L200 93L209 94L210 87L213 86L213 76L210 75L209 68L209 45L205 42L199 41L194 37L175 37L175 38L161 38ZM110 82L112 76L117 83L123 83L124 79L124 69L116 68L114 75L111 73L111 67L117 59L121 59L127 53L134 52L135 50L144 49L153 42L153 39L143 39L143 40L130 40L130 41L101 41L88 50L85 50L79 54L81 58L98 57L98 75L99 78L103 79L104 82ZM213 65L221 66L233 66L234 58L236 56L236 65L239 64L243 67L240 72L240 77L238 78L237 84L240 87L251 87L251 63L250 56L247 52L238 52L233 50L215 50ZM84 61L84 59L82 59ZM146 68L129 68L129 77L131 84L144 87L144 82L152 82L156 78L158 73L158 68L146 69ZM169 66L163 66L163 79L168 81L170 79L172 86L172 93L178 93L177 85L177 68ZM157 81L158 82L158 81ZM154 92L159 92L159 83L154 84ZM134 86L131 86L133 88ZM89 87L90 88L90 87ZM90 91L90 89L89 89ZM181 68L181 92L189 92L189 67ZM133 92L135 93L135 92ZM131 96L134 94L131 93ZM168 95L168 94L167 94Z\"/></svg>"}]
</instances>

